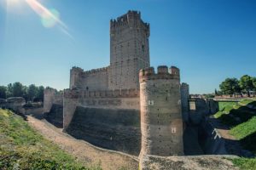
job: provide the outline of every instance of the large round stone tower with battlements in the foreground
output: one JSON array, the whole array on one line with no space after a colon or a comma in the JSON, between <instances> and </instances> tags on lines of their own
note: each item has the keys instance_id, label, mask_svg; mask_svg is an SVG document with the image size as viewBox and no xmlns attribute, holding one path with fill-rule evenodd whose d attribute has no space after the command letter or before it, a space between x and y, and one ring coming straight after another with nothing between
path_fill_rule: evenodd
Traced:
<instances>
[{"instance_id":1,"label":"large round stone tower with battlements in the foreground","mask_svg":"<svg viewBox=\"0 0 256 170\"><path fill-rule=\"evenodd\" d=\"M139 74L142 150L140 156L182 156L183 121L179 69L159 66Z\"/></svg>"}]
</instances>

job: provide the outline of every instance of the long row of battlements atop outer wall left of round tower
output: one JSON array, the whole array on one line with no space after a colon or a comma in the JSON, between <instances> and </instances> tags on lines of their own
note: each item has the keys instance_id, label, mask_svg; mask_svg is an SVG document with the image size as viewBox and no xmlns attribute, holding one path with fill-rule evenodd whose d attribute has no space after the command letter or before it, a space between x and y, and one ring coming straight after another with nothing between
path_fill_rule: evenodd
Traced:
<instances>
[{"instance_id":1,"label":"long row of battlements atop outer wall left of round tower","mask_svg":"<svg viewBox=\"0 0 256 170\"><path fill-rule=\"evenodd\" d=\"M140 91L137 88L120 89L120 90L102 90L102 91L88 91L88 90L64 90L64 97L69 99L79 98L135 98L139 97Z\"/></svg>"}]
</instances>

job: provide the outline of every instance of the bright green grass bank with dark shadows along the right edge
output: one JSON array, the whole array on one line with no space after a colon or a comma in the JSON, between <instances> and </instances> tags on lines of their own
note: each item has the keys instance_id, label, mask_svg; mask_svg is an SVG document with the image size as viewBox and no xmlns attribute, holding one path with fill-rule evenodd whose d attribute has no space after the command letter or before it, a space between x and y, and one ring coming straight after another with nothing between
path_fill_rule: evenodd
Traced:
<instances>
[{"instance_id":1,"label":"bright green grass bank with dark shadows along the right edge","mask_svg":"<svg viewBox=\"0 0 256 170\"><path fill-rule=\"evenodd\" d=\"M241 141L243 148L256 154L256 111L246 105L255 105L255 99L245 99L236 105L224 106L214 116L231 127L230 134ZM256 159L237 158L234 164L241 169L256 169Z\"/></svg>"}]
</instances>

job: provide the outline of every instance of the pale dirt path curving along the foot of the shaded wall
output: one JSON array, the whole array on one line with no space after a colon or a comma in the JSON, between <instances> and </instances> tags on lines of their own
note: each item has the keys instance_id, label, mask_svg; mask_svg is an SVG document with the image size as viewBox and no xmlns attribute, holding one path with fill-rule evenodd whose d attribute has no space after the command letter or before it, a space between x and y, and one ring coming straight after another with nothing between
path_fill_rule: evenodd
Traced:
<instances>
[{"instance_id":1,"label":"pale dirt path curving along the foot of the shaded wall","mask_svg":"<svg viewBox=\"0 0 256 170\"><path fill-rule=\"evenodd\" d=\"M138 161L135 156L99 149L83 140L74 139L67 133L62 133L60 128L54 127L49 122L40 121L32 116L28 116L28 122L46 139L53 141L61 149L83 161L84 165L97 165L100 163L104 170L138 169Z\"/></svg>"}]
</instances>

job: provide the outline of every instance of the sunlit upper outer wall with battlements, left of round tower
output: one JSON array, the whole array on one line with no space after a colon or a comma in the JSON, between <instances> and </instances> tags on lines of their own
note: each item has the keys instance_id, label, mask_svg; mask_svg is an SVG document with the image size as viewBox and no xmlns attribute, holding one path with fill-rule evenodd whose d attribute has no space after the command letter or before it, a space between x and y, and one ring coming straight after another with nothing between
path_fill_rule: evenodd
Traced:
<instances>
[{"instance_id":1,"label":"sunlit upper outer wall with battlements, left of round tower","mask_svg":"<svg viewBox=\"0 0 256 170\"><path fill-rule=\"evenodd\" d=\"M64 91L64 129L68 127L77 106L100 109L140 108L139 90L135 88L106 91L70 90Z\"/></svg>"}]
</instances>

